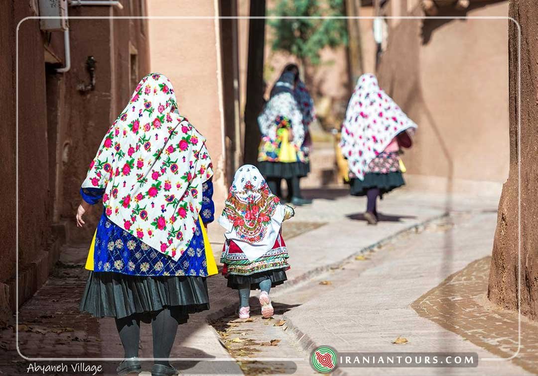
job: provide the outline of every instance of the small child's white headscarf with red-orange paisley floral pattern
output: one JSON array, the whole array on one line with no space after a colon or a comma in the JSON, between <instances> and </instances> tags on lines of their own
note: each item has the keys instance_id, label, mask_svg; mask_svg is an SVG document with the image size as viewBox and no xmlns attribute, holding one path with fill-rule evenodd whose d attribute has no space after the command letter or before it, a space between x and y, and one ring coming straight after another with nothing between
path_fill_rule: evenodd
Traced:
<instances>
[{"instance_id":1,"label":"small child's white headscarf with red-orange paisley floral pattern","mask_svg":"<svg viewBox=\"0 0 538 376\"><path fill-rule=\"evenodd\" d=\"M245 164L233 177L218 223L226 229L226 238L236 242L253 261L271 249L285 214L284 205L271 192L260 171Z\"/></svg>"}]
</instances>

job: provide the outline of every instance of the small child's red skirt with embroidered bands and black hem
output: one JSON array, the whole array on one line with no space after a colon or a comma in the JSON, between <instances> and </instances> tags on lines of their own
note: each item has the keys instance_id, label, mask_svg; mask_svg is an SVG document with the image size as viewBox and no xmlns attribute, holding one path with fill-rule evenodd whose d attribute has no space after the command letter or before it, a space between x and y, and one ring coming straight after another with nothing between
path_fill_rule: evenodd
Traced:
<instances>
[{"instance_id":1,"label":"small child's red skirt with embroidered bands and black hem","mask_svg":"<svg viewBox=\"0 0 538 376\"><path fill-rule=\"evenodd\" d=\"M287 280L288 257L286 244L280 235L273 249L254 261L249 261L237 244L229 241L222 251L222 274L228 279L230 288L238 289L250 285L251 290L256 290L259 283L265 279L271 279L271 285L274 287Z\"/></svg>"}]
</instances>

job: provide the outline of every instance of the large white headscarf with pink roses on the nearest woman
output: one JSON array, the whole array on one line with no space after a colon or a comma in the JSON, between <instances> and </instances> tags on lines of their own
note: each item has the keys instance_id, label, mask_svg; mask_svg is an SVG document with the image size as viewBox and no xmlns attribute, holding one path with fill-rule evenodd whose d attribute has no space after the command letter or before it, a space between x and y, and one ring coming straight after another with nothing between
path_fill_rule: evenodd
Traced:
<instances>
[{"instance_id":1,"label":"large white headscarf with pink roses on the nearest woman","mask_svg":"<svg viewBox=\"0 0 538 376\"><path fill-rule=\"evenodd\" d=\"M142 78L112 123L82 188L103 189L105 215L178 260L195 231L202 183L213 176L206 139L177 113L172 83Z\"/></svg>"}]
</instances>

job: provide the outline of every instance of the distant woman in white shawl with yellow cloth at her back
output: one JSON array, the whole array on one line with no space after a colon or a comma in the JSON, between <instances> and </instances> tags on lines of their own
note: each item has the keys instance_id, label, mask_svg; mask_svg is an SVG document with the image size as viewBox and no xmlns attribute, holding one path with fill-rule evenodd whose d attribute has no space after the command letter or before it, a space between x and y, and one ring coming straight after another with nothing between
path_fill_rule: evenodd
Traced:
<instances>
[{"instance_id":1,"label":"distant woman in white shawl with yellow cloth at her back","mask_svg":"<svg viewBox=\"0 0 538 376\"><path fill-rule=\"evenodd\" d=\"M288 183L288 200L294 205L310 204L301 196L299 179L310 170L303 144L305 127L294 96L295 75L282 73L271 90L269 102L258 117L261 142L258 167L270 189L280 198L280 182Z\"/></svg>"}]
</instances>

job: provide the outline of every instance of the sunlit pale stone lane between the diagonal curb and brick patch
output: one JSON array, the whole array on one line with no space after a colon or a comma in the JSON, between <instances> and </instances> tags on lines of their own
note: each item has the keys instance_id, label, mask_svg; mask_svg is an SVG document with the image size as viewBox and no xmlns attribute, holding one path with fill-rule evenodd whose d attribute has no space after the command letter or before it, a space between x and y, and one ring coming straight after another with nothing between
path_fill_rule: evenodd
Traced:
<instances>
[{"instance_id":1,"label":"sunlit pale stone lane between the diagonal curb and brick patch","mask_svg":"<svg viewBox=\"0 0 538 376\"><path fill-rule=\"evenodd\" d=\"M355 352L476 352L480 359L477 368L340 368L343 374L528 374L516 365L520 363L502 361L500 353L492 351L492 347L499 344L498 336L490 338L482 333L482 343L478 343L439 325L447 320L458 327L457 315L461 315L463 309L454 309L443 317L432 315L433 321L430 321L412 308L415 300L450 274L490 254L496 215L487 206L472 209L404 233L379 244L355 262L344 263L325 276L317 276L309 284L315 291L315 299L294 294L293 298L304 303L285 313L288 332L293 332L308 351L319 345L330 345L337 351ZM300 237L294 238L294 241L300 240ZM315 288L316 280L323 283L324 292ZM482 289L481 293L484 292ZM302 294L312 295L312 292ZM443 295L441 300L445 304L451 300L457 302L458 298L450 295ZM419 301L431 303L424 298ZM287 299L279 299L279 302L286 303ZM479 321L478 317L475 319ZM482 327L494 326L500 321L494 312L481 320ZM528 340L535 346L538 330L529 335L534 335ZM408 342L393 344L398 337L405 337ZM533 357L529 361L537 364L535 352Z\"/></svg>"}]
</instances>

